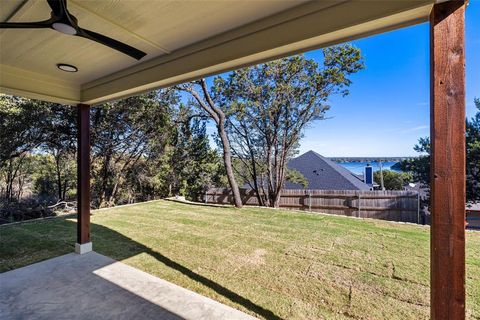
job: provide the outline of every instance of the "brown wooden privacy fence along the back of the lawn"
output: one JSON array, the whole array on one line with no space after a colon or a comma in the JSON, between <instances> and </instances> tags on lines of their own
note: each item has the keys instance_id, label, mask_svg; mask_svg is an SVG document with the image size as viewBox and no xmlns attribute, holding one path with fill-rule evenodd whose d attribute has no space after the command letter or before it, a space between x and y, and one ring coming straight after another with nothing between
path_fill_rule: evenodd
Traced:
<instances>
[{"instance_id":1,"label":"brown wooden privacy fence along the back of the lawn","mask_svg":"<svg viewBox=\"0 0 480 320\"><path fill-rule=\"evenodd\" d=\"M259 205L255 192L240 189L245 205ZM208 190L203 201L231 204L230 189ZM418 192L356 190L283 190L280 207L362 218L421 223Z\"/></svg>"}]
</instances>

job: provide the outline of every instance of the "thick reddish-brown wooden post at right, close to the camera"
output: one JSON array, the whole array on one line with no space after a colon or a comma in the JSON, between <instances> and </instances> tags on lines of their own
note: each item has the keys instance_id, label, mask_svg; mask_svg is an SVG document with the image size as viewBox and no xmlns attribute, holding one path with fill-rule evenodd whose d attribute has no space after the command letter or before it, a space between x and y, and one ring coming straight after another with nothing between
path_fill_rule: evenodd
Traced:
<instances>
[{"instance_id":1,"label":"thick reddish-brown wooden post at right, close to the camera","mask_svg":"<svg viewBox=\"0 0 480 320\"><path fill-rule=\"evenodd\" d=\"M431 55L431 318L465 319L465 1L435 4Z\"/></svg>"}]
</instances>

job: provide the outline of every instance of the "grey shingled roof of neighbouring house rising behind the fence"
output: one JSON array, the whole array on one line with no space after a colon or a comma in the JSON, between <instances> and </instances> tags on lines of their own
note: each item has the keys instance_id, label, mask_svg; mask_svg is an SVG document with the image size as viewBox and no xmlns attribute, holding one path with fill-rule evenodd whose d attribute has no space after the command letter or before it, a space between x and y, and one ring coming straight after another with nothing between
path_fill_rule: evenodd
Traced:
<instances>
[{"instance_id":1,"label":"grey shingled roof of neighbouring house rising behind the fence","mask_svg":"<svg viewBox=\"0 0 480 320\"><path fill-rule=\"evenodd\" d=\"M341 165L308 151L288 162L288 168L299 171L308 180L307 189L370 190L355 174ZM285 189L303 189L300 184L285 183Z\"/></svg>"}]
</instances>

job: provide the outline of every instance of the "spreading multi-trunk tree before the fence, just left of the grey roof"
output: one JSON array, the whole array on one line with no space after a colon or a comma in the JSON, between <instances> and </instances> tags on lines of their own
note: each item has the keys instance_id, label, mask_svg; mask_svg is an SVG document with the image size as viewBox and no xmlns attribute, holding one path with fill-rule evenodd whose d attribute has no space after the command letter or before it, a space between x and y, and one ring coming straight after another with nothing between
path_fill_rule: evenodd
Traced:
<instances>
[{"instance_id":1,"label":"spreading multi-trunk tree before the fence, just left of the grey roof","mask_svg":"<svg viewBox=\"0 0 480 320\"><path fill-rule=\"evenodd\" d=\"M297 152L304 129L325 119L327 100L347 95L350 76L364 67L352 45L323 50L323 63L297 55L217 77L212 100L227 115L237 174L249 181L259 203L278 207L287 163Z\"/></svg>"}]
</instances>

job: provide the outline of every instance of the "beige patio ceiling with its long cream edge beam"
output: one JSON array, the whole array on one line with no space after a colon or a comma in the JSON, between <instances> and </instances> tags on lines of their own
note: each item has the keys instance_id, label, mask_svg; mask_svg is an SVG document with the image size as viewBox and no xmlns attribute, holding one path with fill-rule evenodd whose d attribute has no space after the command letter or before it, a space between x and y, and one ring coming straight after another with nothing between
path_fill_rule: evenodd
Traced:
<instances>
[{"instance_id":1,"label":"beige patio ceiling with its long cream edge beam","mask_svg":"<svg viewBox=\"0 0 480 320\"><path fill-rule=\"evenodd\" d=\"M140 61L52 29L0 29L0 91L98 104L428 20L434 0L70 0L83 28ZM44 0L2 0L0 21L50 17ZM66 63L76 73L60 71Z\"/></svg>"}]
</instances>

